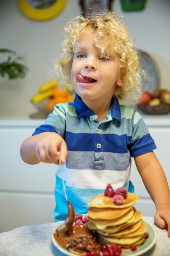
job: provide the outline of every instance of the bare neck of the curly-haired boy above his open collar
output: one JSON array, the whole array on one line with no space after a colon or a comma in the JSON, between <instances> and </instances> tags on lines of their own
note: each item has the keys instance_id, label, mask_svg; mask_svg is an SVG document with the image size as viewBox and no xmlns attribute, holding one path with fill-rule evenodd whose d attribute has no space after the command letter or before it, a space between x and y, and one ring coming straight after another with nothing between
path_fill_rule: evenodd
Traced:
<instances>
[{"instance_id":1,"label":"bare neck of the curly-haired boy above his open collar","mask_svg":"<svg viewBox=\"0 0 170 256\"><path fill-rule=\"evenodd\" d=\"M97 120L99 122L101 122L109 113L111 108L111 101L112 99L109 102L100 102L99 100L95 102L95 100L90 101L82 99L82 102L88 108L90 108L90 110L92 110L92 112L95 113L95 115L97 115Z\"/></svg>"}]
</instances>

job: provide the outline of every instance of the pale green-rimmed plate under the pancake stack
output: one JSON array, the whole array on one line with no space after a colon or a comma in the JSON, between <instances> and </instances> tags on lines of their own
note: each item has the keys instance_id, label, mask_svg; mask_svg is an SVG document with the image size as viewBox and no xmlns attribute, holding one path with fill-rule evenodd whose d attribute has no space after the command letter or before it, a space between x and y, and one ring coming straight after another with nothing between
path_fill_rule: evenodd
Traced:
<instances>
[{"instance_id":1,"label":"pale green-rimmed plate under the pancake stack","mask_svg":"<svg viewBox=\"0 0 170 256\"><path fill-rule=\"evenodd\" d=\"M147 251L149 251L155 244L156 242L156 233L154 228L147 223L146 221L145 225L147 226L147 233L149 234L149 238L145 239L145 241L143 242L143 244L138 248L137 251L130 251L130 252L126 252L126 253L121 253L121 256L139 256L142 255L143 253L146 253ZM65 222L61 223L60 225L57 226L57 229L62 229L65 228ZM55 231L54 231L55 233ZM53 234L54 234L53 233ZM76 256L78 254L75 253L70 253L67 249L61 247L57 241L55 241L55 238L52 234L52 242L54 244L54 246L61 251L62 253L65 253L65 255L70 255L70 256ZM102 255L102 254L101 254Z\"/></svg>"}]
</instances>

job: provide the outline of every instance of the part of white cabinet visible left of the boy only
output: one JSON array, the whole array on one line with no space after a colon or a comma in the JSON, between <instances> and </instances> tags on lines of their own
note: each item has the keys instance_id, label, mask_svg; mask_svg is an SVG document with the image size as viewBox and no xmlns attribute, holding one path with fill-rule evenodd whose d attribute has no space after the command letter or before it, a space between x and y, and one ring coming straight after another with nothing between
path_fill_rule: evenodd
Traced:
<instances>
[{"instance_id":1,"label":"part of white cabinet visible left of the boy only","mask_svg":"<svg viewBox=\"0 0 170 256\"><path fill-rule=\"evenodd\" d=\"M20 158L21 143L39 125L0 122L0 232L54 221L55 164L28 165Z\"/></svg>"}]
</instances>

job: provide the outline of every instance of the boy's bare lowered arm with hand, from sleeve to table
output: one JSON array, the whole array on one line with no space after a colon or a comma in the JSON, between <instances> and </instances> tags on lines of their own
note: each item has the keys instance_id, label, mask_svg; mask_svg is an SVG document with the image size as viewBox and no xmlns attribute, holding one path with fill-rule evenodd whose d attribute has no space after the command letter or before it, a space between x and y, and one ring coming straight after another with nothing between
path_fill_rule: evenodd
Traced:
<instances>
[{"instance_id":1,"label":"boy's bare lowered arm with hand, from sleeve to table","mask_svg":"<svg viewBox=\"0 0 170 256\"><path fill-rule=\"evenodd\" d=\"M153 151L134 159L143 183L155 202L157 212L154 220L161 228L168 227L170 237L170 189L163 168Z\"/></svg>"}]
</instances>

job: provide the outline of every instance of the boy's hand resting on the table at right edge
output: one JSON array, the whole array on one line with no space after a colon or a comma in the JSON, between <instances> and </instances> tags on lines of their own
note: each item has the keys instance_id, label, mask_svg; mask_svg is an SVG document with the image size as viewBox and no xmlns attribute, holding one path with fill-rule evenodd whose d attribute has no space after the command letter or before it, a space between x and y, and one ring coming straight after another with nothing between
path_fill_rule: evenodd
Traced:
<instances>
[{"instance_id":1,"label":"boy's hand resting on the table at right edge","mask_svg":"<svg viewBox=\"0 0 170 256\"><path fill-rule=\"evenodd\" d=\"M154 216L155 223L160 228L168 228L168 237L170 237L170 205L160 204Z\"/></svg>"}]
</instances>

